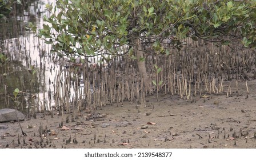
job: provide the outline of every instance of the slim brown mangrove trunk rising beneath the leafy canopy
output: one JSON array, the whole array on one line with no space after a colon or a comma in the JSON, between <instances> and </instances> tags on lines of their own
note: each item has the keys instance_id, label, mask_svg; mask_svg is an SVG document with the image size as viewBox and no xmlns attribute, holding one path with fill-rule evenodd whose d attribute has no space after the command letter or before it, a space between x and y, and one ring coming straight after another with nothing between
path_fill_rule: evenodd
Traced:
<instances>
[{"instance_id":1,"label":"slim brown mangrove trunk rising beneath the leafy canopy","mask_svg":"<svg viewBox=\"0 0 256 160\"><path fill-rule=\"evenodd\" d=\"M146 70L145 58L143 56L143 51L141 47L141 41L139 40L139 38L136 38L134 40L134 52L137 57L139 75L141 76L141 78L143 78L143 81L145 82L147 78L147 70Z\"/></svg>"}]
</instances>

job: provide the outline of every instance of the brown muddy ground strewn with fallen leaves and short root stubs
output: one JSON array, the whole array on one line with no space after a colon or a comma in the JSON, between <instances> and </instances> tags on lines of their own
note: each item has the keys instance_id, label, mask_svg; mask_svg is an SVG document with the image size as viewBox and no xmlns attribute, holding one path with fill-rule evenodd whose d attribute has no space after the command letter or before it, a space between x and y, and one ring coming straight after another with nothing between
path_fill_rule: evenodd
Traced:
<instances>
[{"instance_id":1,"label":"brown muddy ground strewn with fallen leaves and short root stubs","mask_svg":"<svg viewBox=\"0 0 256 160\"><path fill-rule=\"evenodd\" d=\"M194 102L178 95L146 97L146 106L132 102L82 111L79 119L60 127L62 117L38 114L37 119L0 123L0 148L255 148L256 81L231 82L221 95L202 94ZM204 97L204 98L203 98ZM39 136L39 126L47 135ZM19 142L18 142L19 137Z\"/></svg>"}]
</instances>

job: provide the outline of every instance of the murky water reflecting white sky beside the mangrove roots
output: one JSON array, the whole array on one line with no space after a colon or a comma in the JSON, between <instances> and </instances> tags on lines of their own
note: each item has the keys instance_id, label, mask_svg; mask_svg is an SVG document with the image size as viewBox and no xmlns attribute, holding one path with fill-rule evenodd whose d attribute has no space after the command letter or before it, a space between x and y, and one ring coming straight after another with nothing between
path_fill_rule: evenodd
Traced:
<instances>
[{"instance_id":1,"label":"murky water reflecting white sky beside the mangrove roots","mask_svg":"<svg viewBox=\"0 0 256 160\"><path fill-rule=\"evenodd\" d=\"M26 5L14 8L11 17L1 24L0 54L9 58L0 67L0 109L14 108L12 93L18 88L22 91L19 107L41 108L43 102L52 96L53 81L59 69L54 63L56 57L49 56L50 46L47 46L26 29L29 22L41 27L46 3L54 0L27 1ZM51 103L44 106L49 108Z\"/></svg>"}]
</instances>

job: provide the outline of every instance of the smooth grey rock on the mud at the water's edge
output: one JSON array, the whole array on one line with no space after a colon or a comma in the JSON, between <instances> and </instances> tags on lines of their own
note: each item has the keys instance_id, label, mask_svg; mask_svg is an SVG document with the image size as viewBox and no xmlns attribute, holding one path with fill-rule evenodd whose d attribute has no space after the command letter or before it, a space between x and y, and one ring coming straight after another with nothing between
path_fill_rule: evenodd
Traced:
<instances>
[{"instance_id":1,"label":"smooth grey rock on the mud at the water's edge","mask_svg":"<svg viewBox=\"0 0 256 160\"><path fill-rule=\"evenodd\" d=\"M0 122L10 122L10 121L23 121L25 119L25 115L20 111L16 111L14 109L1 109L0 110ZM17 119L18 117L18 119Z\"/></svg>"}]
</instances>

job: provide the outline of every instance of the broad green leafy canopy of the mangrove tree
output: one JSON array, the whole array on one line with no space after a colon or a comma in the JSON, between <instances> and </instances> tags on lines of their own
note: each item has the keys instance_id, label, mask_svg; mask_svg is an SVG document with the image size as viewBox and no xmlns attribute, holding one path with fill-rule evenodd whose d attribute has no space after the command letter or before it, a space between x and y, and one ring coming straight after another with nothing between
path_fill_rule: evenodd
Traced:
<instances>
[{"instance_id":1,"label":"broad green leafy canopy of the mangrove tree","mask_svg":"<svg viewBox=\"0 0 256 160\"><path fill-rule=\"evenodd\" d=\"M157 54L169 54L163 39L181 49L182 40L191 37L215 39L221 45L237 41L255 47L256 0L57 0L46 5L38 37L53 46L59 55L94 56L103 51L130 54L134 39L152 46ZM35 27L30 25L31 30ZM227 35L232 40L227 39Z\"/></svg>"}]
</instances>

